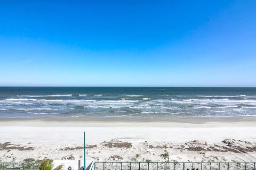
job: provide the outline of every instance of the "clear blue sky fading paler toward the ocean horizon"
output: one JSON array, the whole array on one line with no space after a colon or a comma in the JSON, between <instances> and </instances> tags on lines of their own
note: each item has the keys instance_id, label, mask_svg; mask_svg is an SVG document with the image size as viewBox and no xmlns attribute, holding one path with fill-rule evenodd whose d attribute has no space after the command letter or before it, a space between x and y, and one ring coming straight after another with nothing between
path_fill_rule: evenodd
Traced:
<instances>
[{"instance_id":1,"label":"clear blue sky fading paler toward the ocean horizon","mask_svg":"<svg viewBox=\"0 0 256 170\"><path fill-rule=\"evenodd\" d=\"M256 1L0 0L0 86L256 87Z\"/></svg>"}]
</instances>

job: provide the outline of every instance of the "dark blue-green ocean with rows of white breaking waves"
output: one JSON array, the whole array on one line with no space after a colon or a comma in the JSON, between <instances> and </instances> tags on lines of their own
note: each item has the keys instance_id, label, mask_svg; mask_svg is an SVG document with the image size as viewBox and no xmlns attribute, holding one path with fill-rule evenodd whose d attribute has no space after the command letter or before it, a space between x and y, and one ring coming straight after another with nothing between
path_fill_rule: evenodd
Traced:
<instances>
[{"instance_id":1,"label":"dark blue-green ocean with rows of white breaking waves","mask_svg":"<svg viewBox=\"0 0 256 170\"><path fill-rule=\"evenodd\" d=\"M0 87L0 117L245 116L256 88Z\"/></svg>"}]
</instances>

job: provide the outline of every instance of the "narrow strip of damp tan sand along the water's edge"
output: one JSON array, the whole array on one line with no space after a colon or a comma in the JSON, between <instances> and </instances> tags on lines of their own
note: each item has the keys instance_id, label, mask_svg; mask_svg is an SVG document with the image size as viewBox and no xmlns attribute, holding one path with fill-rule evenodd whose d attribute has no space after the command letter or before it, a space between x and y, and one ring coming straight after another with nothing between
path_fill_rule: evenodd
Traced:
<instances>
[{"instance_id":1,"label":"narrow strip of damp tan sand along the water's edge","mask_svg":"<svg viewBox=\"0 0 256 170\"><path fill-rule=\"evenodd\" d=\"M256 118L87 118L87 117L44 117L44 118L0 118L1 126L70 126L70 127L256 127Z\"/></svg>"}]
</instances>

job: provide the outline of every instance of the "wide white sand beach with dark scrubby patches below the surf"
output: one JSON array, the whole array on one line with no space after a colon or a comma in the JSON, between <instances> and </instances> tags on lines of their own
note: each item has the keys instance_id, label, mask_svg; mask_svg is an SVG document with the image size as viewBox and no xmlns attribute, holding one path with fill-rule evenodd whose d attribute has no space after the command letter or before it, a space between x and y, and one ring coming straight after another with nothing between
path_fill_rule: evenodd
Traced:
<instances>
[{"instance_id":1,"label":"wide white sand beach with dark scrubby patches below the surf","mask_svg":"<svg viewBox=\"0 0 256 170\"><path fill-rule=\"evenodd\" d=\"M255 161L256 119L2 118L0 161Z\"/></svg>"}]
</instances>

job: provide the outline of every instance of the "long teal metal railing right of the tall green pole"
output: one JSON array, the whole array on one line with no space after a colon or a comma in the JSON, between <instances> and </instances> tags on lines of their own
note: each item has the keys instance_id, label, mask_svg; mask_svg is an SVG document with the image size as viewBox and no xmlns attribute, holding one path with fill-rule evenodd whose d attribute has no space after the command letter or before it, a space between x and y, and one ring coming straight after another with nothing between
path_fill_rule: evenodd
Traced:
<instances>
[{"instance_id":1,"label":"long teal metal railing right of the tall green pole","mask_svg":"<svg viewBox=\"0 0 256 170\"><path fill-rule=\"evenodd\" d=\"M255 162L95 162L94 170L256 170Z\"/></svg>"}]
</instances>

